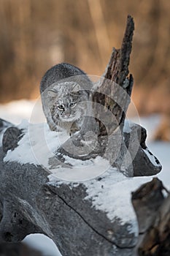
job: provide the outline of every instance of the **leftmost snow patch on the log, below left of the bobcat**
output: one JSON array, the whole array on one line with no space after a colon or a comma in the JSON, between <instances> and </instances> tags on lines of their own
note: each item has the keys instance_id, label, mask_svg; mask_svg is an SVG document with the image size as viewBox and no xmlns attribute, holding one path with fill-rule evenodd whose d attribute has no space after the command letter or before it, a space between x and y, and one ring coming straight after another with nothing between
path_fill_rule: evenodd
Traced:
<instances>
[{"instance_id":1,"label":"leftmost snow patch on the log, below left of the bobcat","mask_svg":"<svg viewBox=\"0 0 170 256\"><path fill-rule=\"evenodd\" d=\"M47 124L29 124L23 120L18 126L25 134L18 142L18 147L7 151L4 162L19 162L20 164L34 164L48 166L48 159L54 156L54 151L61 146L66 137L50 131ZM68 138L68 137L67 137ZM61 141L62 139L62 141Z\"/></svg>"}]
</instances>

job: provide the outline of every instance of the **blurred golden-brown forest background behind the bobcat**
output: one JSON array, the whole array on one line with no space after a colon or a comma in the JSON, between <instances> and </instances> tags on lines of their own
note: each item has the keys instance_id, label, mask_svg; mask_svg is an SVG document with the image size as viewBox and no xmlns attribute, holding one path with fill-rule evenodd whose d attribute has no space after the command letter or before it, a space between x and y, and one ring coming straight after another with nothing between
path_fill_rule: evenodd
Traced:
<instances>
[{"instance_id":1,"label":"blurred golden-brown forest background behind the bobcat","mask_svg":"<svg viewBox=\"0 0 170 256\"><path fill-rule=\"evenodd\" d=\"M170 1L0 0L0 101L35 99L39 82L66 61L101 75L120 48L127 15L135 33L130 72L139 113L170 112Z\"/></svg>"}]
</instances>

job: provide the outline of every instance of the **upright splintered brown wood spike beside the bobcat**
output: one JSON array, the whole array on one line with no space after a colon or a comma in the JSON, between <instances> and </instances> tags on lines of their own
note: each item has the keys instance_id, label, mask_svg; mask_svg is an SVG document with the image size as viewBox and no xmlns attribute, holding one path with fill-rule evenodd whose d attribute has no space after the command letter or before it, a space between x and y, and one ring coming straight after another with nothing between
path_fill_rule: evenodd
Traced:
<instances>
[{"instance_id":1,"label":"upright splintered brown wood spike beside the bobcat","mask_svg":"<svg viewBox=\"0 0 170 256\"><path fill-rule=\"evenodd\" d=\"M98 91L93 93L94 113L100 124L100 135L105 135L106 129L100 122L101 116L108 115L108 110L112 112L112 118L109 118L107 132L112 133L117 126L124 124L125 113L130 103L131 90L133 87L133 77L128 76L128 64L130 61L132 39L134 34L134 20L128 16L122 47L113 48L104 80L98 84ZM98 111L100 103L105 107L105 113ZM116 124L115 124L116 119Z\"/></svg>"}]
</instances>

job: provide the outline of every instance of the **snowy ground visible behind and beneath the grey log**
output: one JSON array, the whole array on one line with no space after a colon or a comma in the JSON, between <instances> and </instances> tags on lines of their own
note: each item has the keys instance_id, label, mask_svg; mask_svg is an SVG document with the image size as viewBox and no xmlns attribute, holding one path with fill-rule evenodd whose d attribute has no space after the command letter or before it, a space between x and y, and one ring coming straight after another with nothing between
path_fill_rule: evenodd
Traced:
<instances>
[{"instance_id":1,"label":"snowy ground visible behind and beneath the grey log","mask_svg":"<svg viewBox=\"0 0 170 256\"><path fill-rule=\"evenodd\" d=\"M0 105L0 118L4 118L5 120L11 121L14 124L20 124L20 121L23 118L28 119L32 123L34 123L35 121L45 121L44 117L42 115L39 115L40 108L41 105L39 100L37 100L36 102L26 100L10 102L7 105ZM161 171L161 173L158 174L158 178L163 181L163 184L165 184L166 187L170 188L170 143L152 141L152 136L154 135L155 128L158 127L160 120L161 117L158 115L148 116L145 118L132 118L132 121L141 124L147 129L147 146L150 148L150 151L152 151L152 153L155 154L156 157L158 157L161 164L163 165L163 170ZM43 252L44 256L60 255L53 241L43 235L36 234L27 236L24 239L24 242L26 244L29 244L30 246L33 246L36 249L40 249Z\"/></svg>"}]
</instances>

